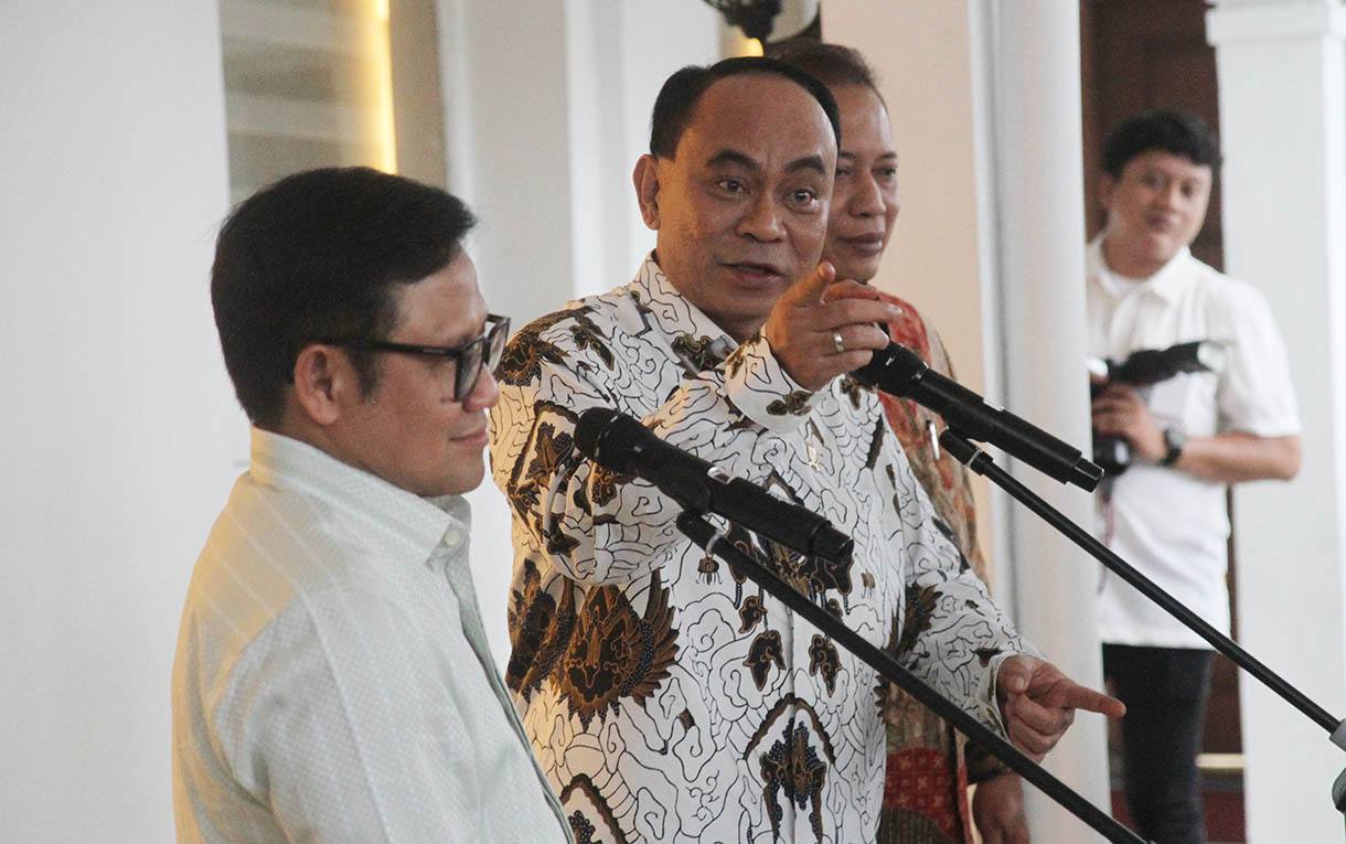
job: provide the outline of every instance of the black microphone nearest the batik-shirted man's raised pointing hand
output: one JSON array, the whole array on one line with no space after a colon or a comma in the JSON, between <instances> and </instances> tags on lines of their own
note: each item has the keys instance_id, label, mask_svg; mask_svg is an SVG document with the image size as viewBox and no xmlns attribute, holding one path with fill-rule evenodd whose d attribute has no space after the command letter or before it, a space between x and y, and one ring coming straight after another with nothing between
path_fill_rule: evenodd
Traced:
<instances>
[{"instance_id":1,"label":"black microphone nearest the batik-shirted man's raised pointing hand","mask_svg":"<svg viewBox=\"0 0 1346 844\"><path fill-rule=\"evenodd\" d=\"M987 404L957 381L931 370L899 343L875 351L874 359L852 374L861 384L930 408L962 436L991 443L1062 483L1093 491L1102 478L1102 470L1084 459L1078 448Z\"/></svg>"}]
</instances>

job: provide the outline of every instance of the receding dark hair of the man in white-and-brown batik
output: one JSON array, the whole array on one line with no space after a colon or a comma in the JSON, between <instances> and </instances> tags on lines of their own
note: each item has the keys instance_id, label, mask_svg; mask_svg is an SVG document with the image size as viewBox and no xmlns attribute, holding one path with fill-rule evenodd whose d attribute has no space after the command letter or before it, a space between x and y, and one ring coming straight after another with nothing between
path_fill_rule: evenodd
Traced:
<instances>
[{"instance_id":1,"label":"receding dark hair of the man in white-and-brown batik","mask_svg":"<svg viewBox=\"0 0 1346 844\"><path fill-rule=\"evenodd\" d=\"M682 140L682 132L692 122L692 112L701 94L715 82L744 73L774 73L809 92L822 106L828 122L832 124L837 145L841 145L841 117L837 112L837 102L825 85L783 62L756 55L740 55L721 59L709 67L688 65L664 82L660 96L654 100L654 114L650 117L650 155L673 157L678 141Z\"/></svg>"}]
</instances>

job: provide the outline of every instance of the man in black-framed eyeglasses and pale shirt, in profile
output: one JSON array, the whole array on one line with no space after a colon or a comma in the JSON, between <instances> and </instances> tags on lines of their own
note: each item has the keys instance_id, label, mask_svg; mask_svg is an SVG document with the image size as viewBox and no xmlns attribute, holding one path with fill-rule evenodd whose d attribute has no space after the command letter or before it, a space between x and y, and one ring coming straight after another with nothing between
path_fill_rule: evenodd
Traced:
<instances>
[{"instance_id":1,"label":"man in black-framed eyeglasses and pale shirt, in profile","mask_svg":"<svg viewBox=\"0 0 1346 844\"><path fill-rule=\"evenodd\" d=\"M289 176L219 233L211 299L252 463L197 561L174 665L184 841L569 841L495 674L463 493L486 312L441 190Z\"/></svg>"}]
</instances>

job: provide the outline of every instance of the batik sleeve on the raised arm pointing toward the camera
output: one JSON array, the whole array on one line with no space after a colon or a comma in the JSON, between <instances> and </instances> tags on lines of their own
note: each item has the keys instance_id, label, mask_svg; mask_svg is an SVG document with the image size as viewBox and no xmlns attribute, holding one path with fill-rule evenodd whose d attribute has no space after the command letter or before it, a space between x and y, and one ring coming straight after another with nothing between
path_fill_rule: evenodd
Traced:
<instances>
[{"instance_id":1,"label":"batik sleeve on the raised arm pointing toward the camera","mask_svg":"<svg viewBox=\"0 0 1346 844\"><path fill-rule=\"evenodd\" d=\"M590 584L647 575L688 540L674 524L676 502L579 455L580 413L637 416L678 448L734 471L756 433L801 424L814 400L760 337L690 374L670 367L666 346L603 316L583 306L520 331L491 412L491 471L509 498L516 544L541 549L565 576Z\"/></svg>"}]
</instances>

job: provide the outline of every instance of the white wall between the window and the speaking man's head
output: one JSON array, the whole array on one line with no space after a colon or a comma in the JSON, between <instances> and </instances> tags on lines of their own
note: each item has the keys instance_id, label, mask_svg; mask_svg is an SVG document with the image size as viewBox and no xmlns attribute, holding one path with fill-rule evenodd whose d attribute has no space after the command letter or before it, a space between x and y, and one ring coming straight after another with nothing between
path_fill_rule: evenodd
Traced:
<instances>
[{"instance_id":1,"label":"white wall between the window and the speaking man's head","mask_svg":"<svg viewBox=\"0 0 1346 844\"><path fill-rule=\"evenodd\" d=\"M654 246L631 187L664 79L716 61L700 0L437 0L448 188L482 219L468 244L490 306L517 326L627 283ZM510 516L472 502L472 576L509 660Z\"/></svg>"}]
</instances>

